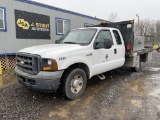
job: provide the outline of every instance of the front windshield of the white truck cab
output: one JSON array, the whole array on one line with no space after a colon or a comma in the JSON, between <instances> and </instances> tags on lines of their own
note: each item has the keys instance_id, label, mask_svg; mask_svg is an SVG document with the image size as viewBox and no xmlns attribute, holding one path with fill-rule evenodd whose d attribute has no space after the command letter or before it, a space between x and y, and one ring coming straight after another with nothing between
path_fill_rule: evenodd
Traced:
<instances>
[{"instance_id":1,"label":"front windshield of the white truck cab","mask_svg":"<svg viewBox=\"0 0 160 120\"><path fill-rule=\"evenodd\" d=\"M68 32L58 40L59 44L89 44L94 37L97 29L77 29Z\"/></svg>"}]
</instances>

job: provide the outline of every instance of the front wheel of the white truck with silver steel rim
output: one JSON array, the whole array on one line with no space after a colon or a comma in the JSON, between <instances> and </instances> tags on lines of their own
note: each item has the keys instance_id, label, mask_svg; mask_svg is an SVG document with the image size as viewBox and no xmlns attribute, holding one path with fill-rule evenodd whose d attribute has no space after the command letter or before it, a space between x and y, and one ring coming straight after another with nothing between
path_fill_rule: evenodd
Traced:
<instances>
[{"instance_id":1,"label":"front wheel of the white truck with silver steel rim","mask_svg":"<svg viewBox=\"0 0 160 120\"><path fill-rule=\"evenodd\" d=\"M87 76L84 70L76 68L70 70L62 81L63 94L68 99L79 98L86 88Z\"/></svg>"}]
</instances>

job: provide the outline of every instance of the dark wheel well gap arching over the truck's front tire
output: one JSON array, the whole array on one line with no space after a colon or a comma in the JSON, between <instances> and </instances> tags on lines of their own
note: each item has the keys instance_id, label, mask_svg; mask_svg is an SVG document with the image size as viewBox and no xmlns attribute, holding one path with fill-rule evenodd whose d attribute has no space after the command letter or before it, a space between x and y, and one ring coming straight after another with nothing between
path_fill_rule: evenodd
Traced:
<instances>
[{"instance_id":1,"label":"dark wheel well gap arching over the truck's front tire","mask_svg":"<svg viewBox=\"0 0 160 120\"><path fill-rule=\"evenodd\" d=\"M70 66L64 71L63 75L66 74L67 72L69 72L70 70L75 69L75 68L81 68L82 70L84 70L85 73L86 73L86 75L87 75L87 79L89 79L89 75L90 75L90 74L89 74L89 68L88 68L88 66L87 66L86 64L84 64L84 63L75 63L75 64L70 65ZM62 77L63 77L63 76L62 76Z\"/></svg>"}]
</instances>

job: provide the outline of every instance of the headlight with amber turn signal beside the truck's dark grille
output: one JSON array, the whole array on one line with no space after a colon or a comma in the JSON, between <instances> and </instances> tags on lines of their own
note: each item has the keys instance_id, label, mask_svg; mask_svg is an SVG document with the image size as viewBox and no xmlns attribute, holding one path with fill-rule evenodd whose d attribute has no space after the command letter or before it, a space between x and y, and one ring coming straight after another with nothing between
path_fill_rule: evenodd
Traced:
<instances>
[{"instance_id":1,"label":"headlight with amber turn signal beside the truck's dark grille","mask_svg":"<svg viewBox=\"0 0 160 120\"><path fill-rule=\"evenodd\" d=\"M42 59L41 70L43 70L43 71L56 71L56 70L58 70L57 61L54 59Z\"/></svg>"}]
</instances>

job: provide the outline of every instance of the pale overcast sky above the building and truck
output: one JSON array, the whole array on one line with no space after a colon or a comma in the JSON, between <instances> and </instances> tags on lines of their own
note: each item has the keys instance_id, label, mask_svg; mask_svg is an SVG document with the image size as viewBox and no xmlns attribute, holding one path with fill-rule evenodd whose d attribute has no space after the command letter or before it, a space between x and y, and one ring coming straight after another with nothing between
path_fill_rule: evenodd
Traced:
<instances>
[{"instance_id":1,"label":"pale overcast sky above the building and truck","mask_svg":"<svg viewBox=\"0 0 160 120\"><path fill-rule=\"evenodd\" d=\"M160 19L160 0L32 0L107 20L117 13L118 20Z\"/></svg>"}]
</instances>

